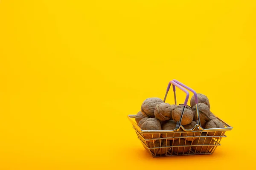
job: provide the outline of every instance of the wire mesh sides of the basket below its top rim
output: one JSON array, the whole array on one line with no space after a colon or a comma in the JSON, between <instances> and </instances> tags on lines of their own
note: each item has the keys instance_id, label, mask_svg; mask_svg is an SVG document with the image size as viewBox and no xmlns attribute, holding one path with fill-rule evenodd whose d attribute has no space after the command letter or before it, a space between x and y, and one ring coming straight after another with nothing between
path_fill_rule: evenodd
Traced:
<instances>
[{"instance_id":1,"label":"wire mesh sides of the basket below its top rim","mask_svg":"<svg viewBox=\"0 0 256 170\"><path fill-rule=\"evenodd\" d=\"M138 139L153 157L212 154L221 145L221 139L227 137L226 130L145 133L135 122L133 127Z\"/></svg>"}]
</instances>

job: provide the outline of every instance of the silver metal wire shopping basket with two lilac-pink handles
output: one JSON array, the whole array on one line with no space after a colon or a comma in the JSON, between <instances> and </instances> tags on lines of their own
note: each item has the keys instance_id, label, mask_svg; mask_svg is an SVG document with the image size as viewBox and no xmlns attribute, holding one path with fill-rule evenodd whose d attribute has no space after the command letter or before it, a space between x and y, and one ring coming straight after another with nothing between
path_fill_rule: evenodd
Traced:
<instances>
[{"instance_id":1,"label":"silver metal wire shopping basket with two lilac-pink handles","mask_svg":"<svg viewBox=\"0 0 256 170\"><path fill-rule=\"evenodd\" d=\"M135 122L136 115L128 115L128 119L131 121L134 130L137 133L137 136L142 142L143 146L146 150L148 150L149 153L151 153L153 157L203 155L214 153L216 147L221 145L221 139L227 137L225 132L227 130L232 130L233 127L216 117L224 124L224 128L204 129L201 126L199 117L197 93L192 88L189 88L188 86L178 82L175 79L169 82L163 102L166 100L171 85L174 91L175 104L177 104L175 87L186 93L186 99L184 102L182 114L180 116L180 121L177 122L174 130L142 130ZM189 92L184 88L192 91L195 96L197 124L190 130L185 129L182 125L180 125L185 107L189 99ZM145 134L147 136L146 138ZM152 137L148 138L148 134ZM159 137L156 138L156 136Z\"/></svg>"}]
</instances>

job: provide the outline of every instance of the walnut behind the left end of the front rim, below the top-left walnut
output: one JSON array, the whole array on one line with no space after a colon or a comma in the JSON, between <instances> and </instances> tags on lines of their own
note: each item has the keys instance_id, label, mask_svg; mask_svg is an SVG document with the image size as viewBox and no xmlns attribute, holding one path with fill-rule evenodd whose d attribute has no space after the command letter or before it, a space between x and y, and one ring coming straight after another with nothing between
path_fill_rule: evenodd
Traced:
<instances>
[{"instance_id":1,"label":"walnut behind the left end of the front rim, below the top-left walnut","mask_svg":"<svg viewBox=\"0 0 256 170\"><path fill-rule=\"evenodd\" d=\"M155 118L148 118L140 126L140 128L142 130L162 130L159 120L157 120ZM155 138L160 138L160 133L143 133L143 136L145 137L145 139L153 139L153 138L155 139ZM152 136L153 136L153 138L152 138Z\"/></svg>"}]
</instances>

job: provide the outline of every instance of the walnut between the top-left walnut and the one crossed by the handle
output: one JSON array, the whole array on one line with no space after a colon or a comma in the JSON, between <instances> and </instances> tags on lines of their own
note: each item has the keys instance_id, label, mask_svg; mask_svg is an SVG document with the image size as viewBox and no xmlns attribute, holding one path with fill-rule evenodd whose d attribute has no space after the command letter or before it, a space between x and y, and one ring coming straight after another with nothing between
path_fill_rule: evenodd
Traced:
<instances>
[{"instance_id":1,"label":"walnut between the top-left walnut and the one crossed by the handle","mask_svg":"<svg viewBox=\"0 0 256 170\"><path fill-rule=\"evenodd\" d=\"M154 116L160 121L172 119L173 106L169 103L159 103L154 110Z\"/></svg>"}]
</instances>

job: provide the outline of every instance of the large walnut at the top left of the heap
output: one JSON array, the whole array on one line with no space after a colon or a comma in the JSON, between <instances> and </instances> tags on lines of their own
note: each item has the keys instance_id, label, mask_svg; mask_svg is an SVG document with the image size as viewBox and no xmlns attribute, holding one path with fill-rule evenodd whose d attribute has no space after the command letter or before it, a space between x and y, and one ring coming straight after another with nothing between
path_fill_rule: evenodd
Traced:
<instances>
[{"instance_id":1,"label":"large walnut at the top left of the heap","mask_svg":"<svg viewBox=\"0 0 256 170\"><path fill-rule=\"evenodd\" d=\"M141 112L145 116L154 117L154 109L159 103L163 103L163 100L157 97L145 99L145 101L141 105Z\"/></svg>"}]
</instances>

